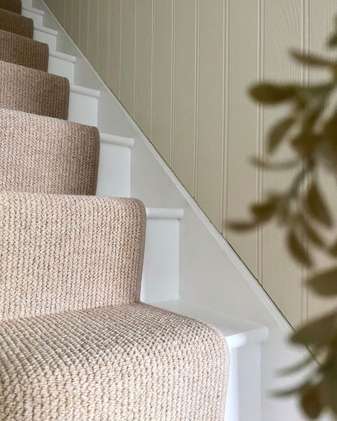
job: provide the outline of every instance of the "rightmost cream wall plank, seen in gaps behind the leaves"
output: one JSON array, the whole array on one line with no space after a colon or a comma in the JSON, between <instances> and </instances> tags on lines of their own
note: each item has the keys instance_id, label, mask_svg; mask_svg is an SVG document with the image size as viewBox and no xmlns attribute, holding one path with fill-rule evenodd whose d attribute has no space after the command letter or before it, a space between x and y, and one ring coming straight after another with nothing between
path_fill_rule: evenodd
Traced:
<instances>
[{"instance_id":1,"label":"rightmost cream wall plank, seen in gaps behind the leaves","mask_svg":"<svg viewBox=\"0 0 337 421\"><path fill-rule=\"evenodd\" d=\"M335 56L335 52L326 48L326 39L328 35L333 33L333 16L337 14L337 4L334 0L321 0L310 3L309 18L310 18L310 32L309 32L309 45L312 53L319 55ZM315 83L321 80L327 80L329 74L320 70L314 70L310 73L310 82ZM334 99L336 101L336 98ZM336 178L333 178L328 171L319 171L319 182L323 190L324 196L328 205L330 206L331 215L334 217L334 222L337 224L337 184ZM326 231L326 237L332 242L337 238L337 229ZM316 263L321 270L326 270L328 267L336 265L336 260L328 259L326 255L321 255L319 252L314 252ZM336 299L323 299L308 292L308 317L321 315L336 308Z\"/></svg>"}]
</instances>

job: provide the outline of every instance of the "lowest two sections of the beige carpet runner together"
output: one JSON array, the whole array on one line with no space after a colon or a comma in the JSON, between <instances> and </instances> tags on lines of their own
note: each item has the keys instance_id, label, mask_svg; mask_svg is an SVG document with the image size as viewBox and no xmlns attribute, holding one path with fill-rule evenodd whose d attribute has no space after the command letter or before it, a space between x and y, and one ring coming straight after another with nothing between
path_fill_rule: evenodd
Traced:
<instances>
[{"instance_id":1,"label":"lowest two sections of the beige carpet runner together","mask_svg":"<svg viewBox=\"0 0 337 421\"><path fill-rule=\"evenodd\" d=\"M223 337L135 302L139 201L0 193L0 214L0 419L220 421Z\"/></svg>"}]
</instances>

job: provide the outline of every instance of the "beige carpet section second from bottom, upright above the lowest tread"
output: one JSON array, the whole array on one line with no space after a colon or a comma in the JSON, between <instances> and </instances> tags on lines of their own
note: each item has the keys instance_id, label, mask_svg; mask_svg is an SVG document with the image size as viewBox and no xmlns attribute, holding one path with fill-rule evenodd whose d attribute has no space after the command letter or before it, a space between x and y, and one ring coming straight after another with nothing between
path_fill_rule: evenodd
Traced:
<instances>
[{"instance_id":1,"label":"beige carpet section second from bottom, upright above the lowest tread","mask_svg":"<svg viewBox=\"0 0 337 421\"><path fill-rule=\"evenodd\" d=\"M0 214L0 320L139 298L139 201L4 192Z\"/></svg>"}]
</instances>

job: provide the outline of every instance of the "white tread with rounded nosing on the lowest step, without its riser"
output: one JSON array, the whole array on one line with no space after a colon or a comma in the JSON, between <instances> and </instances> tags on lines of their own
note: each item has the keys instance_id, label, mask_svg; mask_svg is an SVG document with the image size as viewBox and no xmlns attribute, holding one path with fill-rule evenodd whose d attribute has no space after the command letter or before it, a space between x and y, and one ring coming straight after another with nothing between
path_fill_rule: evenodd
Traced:
<instances>
[{"instance_id":1,"label":"white tread with rounded nosing on the lowest step, without its riser","mask_svg":"<svg viewBox=\"0 0 337 421\"><path fill-rule=\"evenodd\" d=\"M254 343L263 343L268 338L268 329L265 326L252 321L238 319L230 314L219 313L207 307L183 301L182 299L151 304L212 324L223 333L230 349L240 348Z\"/></svg>"}]
</instances>

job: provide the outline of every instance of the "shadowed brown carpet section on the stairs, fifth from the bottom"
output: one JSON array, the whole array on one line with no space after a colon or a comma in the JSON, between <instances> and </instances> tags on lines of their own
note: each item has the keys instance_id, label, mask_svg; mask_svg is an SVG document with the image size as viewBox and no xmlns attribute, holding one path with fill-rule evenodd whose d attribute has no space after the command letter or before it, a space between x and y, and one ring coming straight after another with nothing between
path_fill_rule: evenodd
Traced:
<instances>
[{"instance_id":1,"label":"shadowed brown carpet section on the stairs, fifth from the bottom","mask_svg":"<svg viewBox=\"0 0 337 421\"><path fill-rule=\"evenodd\" d=\"M48 58L48 44L0 29L0 60L46 72Z\"/></svg>"}]
</instances>

